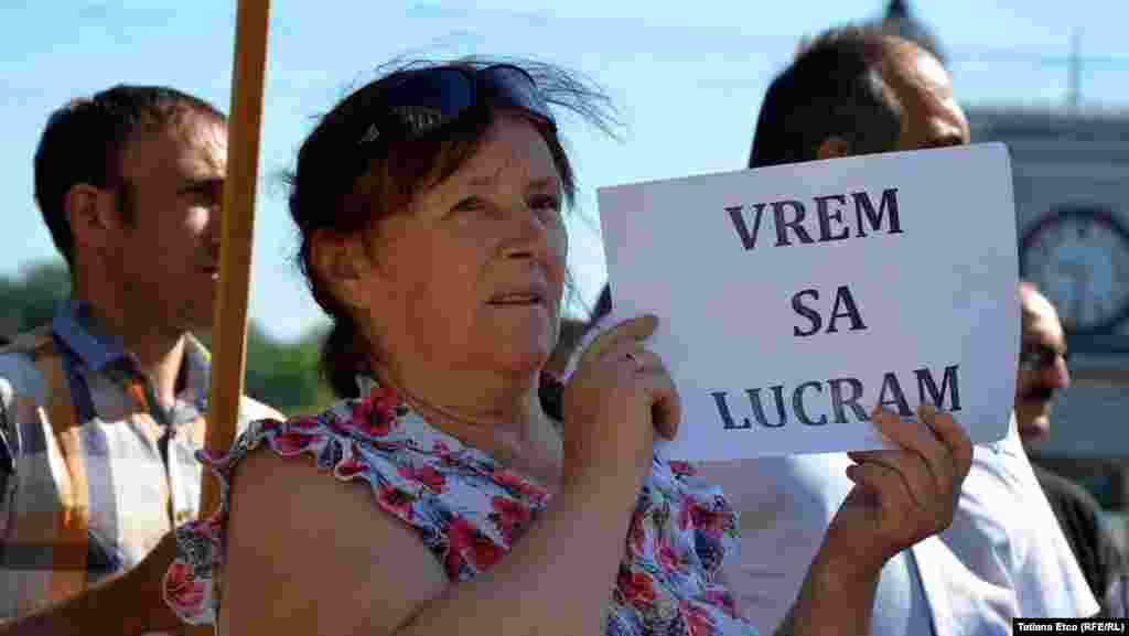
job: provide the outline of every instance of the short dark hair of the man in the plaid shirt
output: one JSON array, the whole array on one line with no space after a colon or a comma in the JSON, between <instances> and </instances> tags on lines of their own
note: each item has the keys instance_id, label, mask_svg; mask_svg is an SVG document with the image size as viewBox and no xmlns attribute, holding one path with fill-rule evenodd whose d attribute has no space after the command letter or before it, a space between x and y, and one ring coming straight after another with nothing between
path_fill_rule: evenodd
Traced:
<instances>
[{"instance_id":1,"label":"short dark hair of the man in the plaid shirt","mask_svg":"<svg viewBox=\"0 0 1129 636\"><path fill-rule=\"evenodd\" d=\"M117 85L51 113L35 151L35 201L68 265L75 265L75 237L67 192L79 183L113 188L128 215L132 191L122 178L126 142L139 130L176 125L190 114L226 121L208 102L165 86Z\"/></svg>"}]
</instances>

